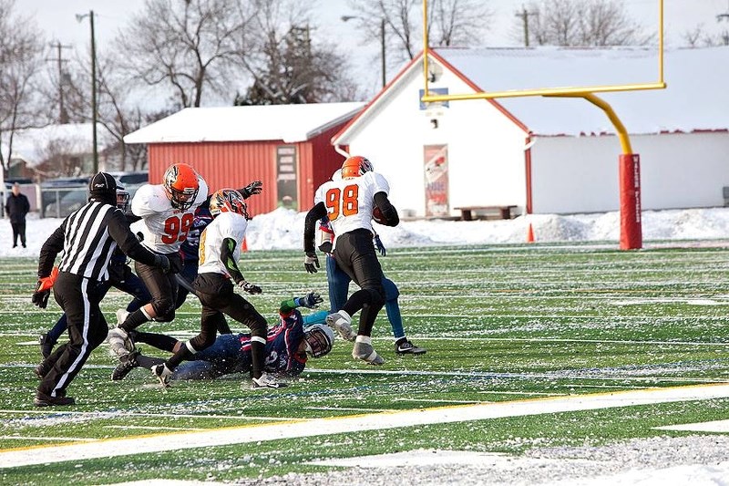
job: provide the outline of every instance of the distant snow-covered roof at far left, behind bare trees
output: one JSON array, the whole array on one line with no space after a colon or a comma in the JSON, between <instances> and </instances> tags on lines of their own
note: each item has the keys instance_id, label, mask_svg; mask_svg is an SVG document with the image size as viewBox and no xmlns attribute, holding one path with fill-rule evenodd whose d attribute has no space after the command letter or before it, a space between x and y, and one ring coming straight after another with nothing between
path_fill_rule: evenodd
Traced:
<instances>
[{"instance_id":1,"label":"distant snow-covered roof at far left, behind bare trees","mask_svg":"<svg viewBox=\"0 0 729 486\"><path fill-rule=\"evenodd\" d=\"M101 126L97 126L100 130ZM93 151L93 133L91 123L67 123L48 125L40 129L24 129L15 132L13 137L13 159L26 161L29 167L42 162L53 150L50 145L56 144L56 150L67 153L84 154ZM7 145L2 146L3 155L7 158Z\"/></svg>"}]
</instances>

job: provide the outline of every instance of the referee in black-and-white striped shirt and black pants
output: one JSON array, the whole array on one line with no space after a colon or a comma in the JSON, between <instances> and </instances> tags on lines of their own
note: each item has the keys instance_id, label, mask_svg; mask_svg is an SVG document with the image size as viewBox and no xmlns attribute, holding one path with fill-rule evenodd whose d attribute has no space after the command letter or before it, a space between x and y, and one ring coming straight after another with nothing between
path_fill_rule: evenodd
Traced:
<instances>
[{"instance_id":1,"label":"referee in black-and-white striped shirt and black pants","mask_svg":"<svg viewBox=\"0 0 729 486\"><path fill-rule=\"evenodd\" d=\"M68 319L69 341L46 358L34 404L37 407L73 405L66 388L84 366L91 351L107 337L108 325L98 304L108 279L108 262L117 246L143 264L169 270L167 257L144 248L129 230L124 213L117 209L117 182L98 172L88 184L87 204L71 213L40 250L38 284L33 303L46 308L50 295L48 275L63 251L53 285L56 303ZM46 366L47 365L47 366Z\"/></svg>"}]
</instances>

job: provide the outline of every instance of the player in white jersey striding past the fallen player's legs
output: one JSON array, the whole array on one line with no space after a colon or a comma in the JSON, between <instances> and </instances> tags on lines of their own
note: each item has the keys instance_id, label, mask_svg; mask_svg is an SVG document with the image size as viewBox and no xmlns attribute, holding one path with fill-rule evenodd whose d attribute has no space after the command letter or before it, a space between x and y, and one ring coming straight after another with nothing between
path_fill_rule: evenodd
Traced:
<instances>
[{"instance_id":1,"label":"player in white jersey striding past the fallen player's legs","mask_svg":"<svg viewBox=\"0 0 729 486\"><path fill-rule=\"evenodd\" d=\"M262 293L261 287L246 281L238 268L249 219L243 196L234 189L216 191L210 197L210 214L213 221L200 235L200 266L193 284L202 305L200 334L186 341L163 364L152 367L152 373L166 386L182 361L212 346L225 314L251 328L252 387L282 388L285 384L264 373L266 319L233 290L235 282L248 294Z\"/></svg>"}]
</instances>

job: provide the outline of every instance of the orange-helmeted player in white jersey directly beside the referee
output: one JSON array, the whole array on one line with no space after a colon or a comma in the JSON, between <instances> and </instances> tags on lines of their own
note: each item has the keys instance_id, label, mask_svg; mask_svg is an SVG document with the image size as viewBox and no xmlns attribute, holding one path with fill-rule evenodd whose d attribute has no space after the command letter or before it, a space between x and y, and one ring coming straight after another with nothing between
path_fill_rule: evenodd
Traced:
<instances>
[{"instance_id":1,"label":"orange-helmeted player in white jersey directly beside the referee","mask_svg":"<svg viewBox=\"0 0 729 486\"><path fill-rule=\"evenodd\" d=\"M161 184L141 186L131 202L131 211L141 218L132 231L142 244L154 253L167 256L168 273L146 264L135 264L135 270L149 289L151 301L132 313L118 312L118 326L108 334L109 344L133 345L128 332L155 319L169 322L175 317L178 284L175 274L182 268L180 244L187 238L200 204L208 198L208 186L200 175L185 163L176 163L165 171Z\"/></svg>"}]
</instances>

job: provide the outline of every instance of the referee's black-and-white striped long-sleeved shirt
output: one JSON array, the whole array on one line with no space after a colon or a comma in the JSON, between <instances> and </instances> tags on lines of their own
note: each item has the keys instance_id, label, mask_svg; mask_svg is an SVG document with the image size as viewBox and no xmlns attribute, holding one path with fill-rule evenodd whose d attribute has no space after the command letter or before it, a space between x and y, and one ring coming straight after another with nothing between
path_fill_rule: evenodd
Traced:
<instances>
[{"instance_id":1,"label":"referee's black-and-white striped long-sleeved shirt","mask_svg":"<svg viewBox=\"0 0 729 486\"><path fill-rule=\"evenodd\" d=\"M48 237L38 258L38 276L50 274L56 255L63 251L60 272L96 281L108 279L108 262L117 248L142 264L155 264L155 254L144 248L129 230L116 206L91 201L71 213Z\"/></svg>"}]
</instances>

